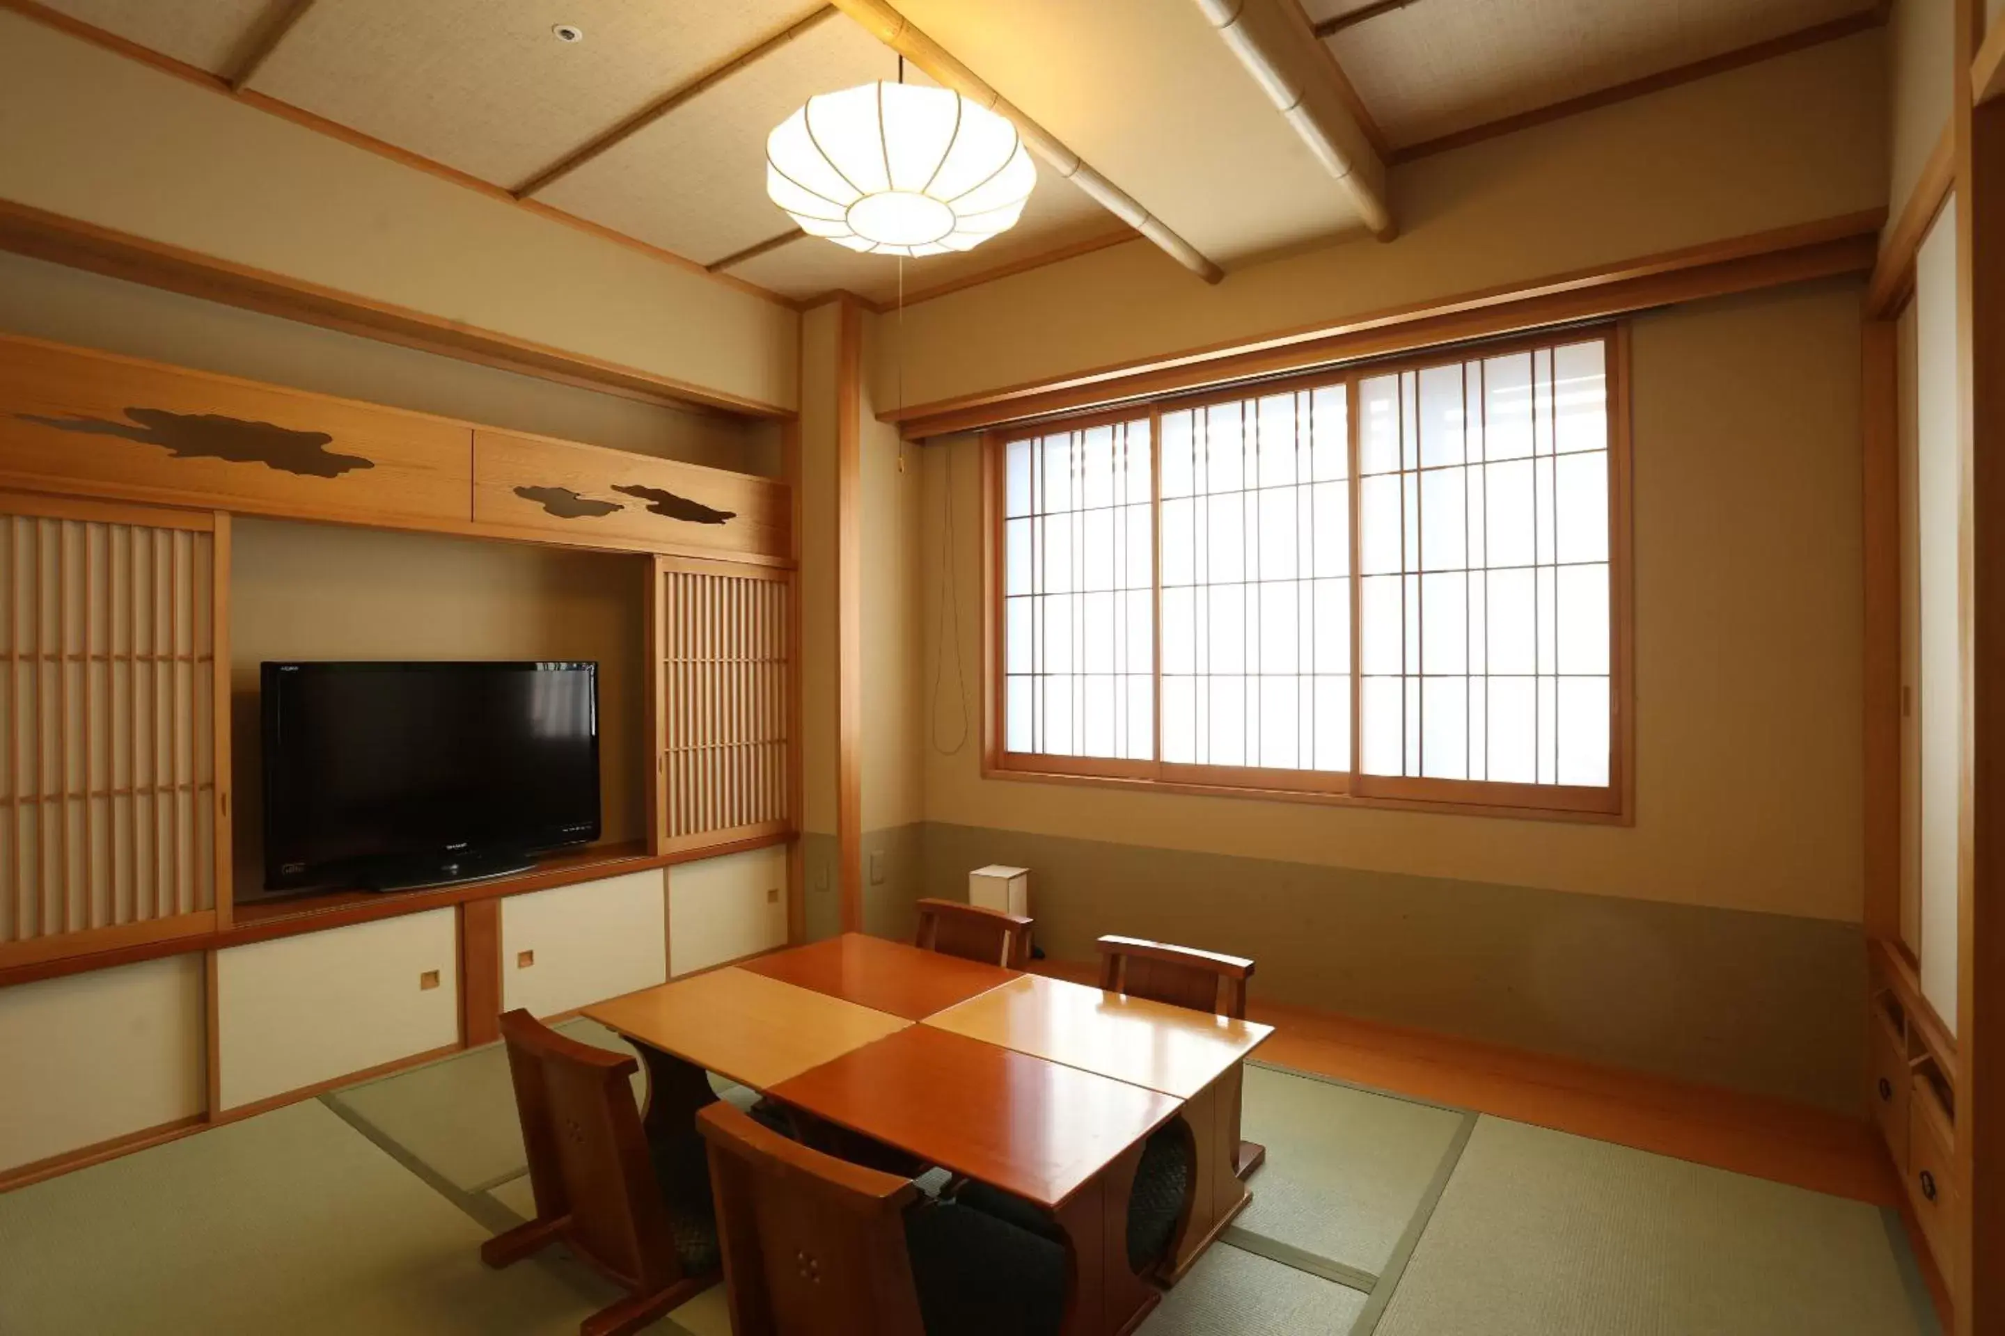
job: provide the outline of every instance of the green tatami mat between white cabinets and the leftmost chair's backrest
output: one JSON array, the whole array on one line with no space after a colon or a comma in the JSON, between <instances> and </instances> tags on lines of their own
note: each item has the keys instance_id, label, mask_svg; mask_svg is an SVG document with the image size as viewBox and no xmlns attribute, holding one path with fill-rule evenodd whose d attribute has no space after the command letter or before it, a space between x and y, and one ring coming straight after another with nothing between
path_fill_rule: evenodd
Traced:
<instances>
[{"instance_id":1,"label":"green tatami mat between white cabinets and the leftmost chair's backrest","mask_svg":"<svg viewBox=\"0 0 2005 1336\"><path fill-rule=\"evenodd\" d=\"M597 1022L577 1018L557 1030L583 1044L632 1052ZM646 1070L634 1078L634 1098L644 1096ZM461 1192L479 1192L527 1164L507 1050L499 1044L349 1086L327 1100Z\"/></svg>"}]
</instances>

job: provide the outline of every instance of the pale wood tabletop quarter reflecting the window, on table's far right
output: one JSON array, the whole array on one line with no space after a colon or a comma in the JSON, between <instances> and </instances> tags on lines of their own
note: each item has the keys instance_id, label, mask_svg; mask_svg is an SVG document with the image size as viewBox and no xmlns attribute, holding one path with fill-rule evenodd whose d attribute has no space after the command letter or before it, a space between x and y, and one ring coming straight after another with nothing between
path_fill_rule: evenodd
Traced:
<instances>
[{"instance_id":1,"label":"pale wood tabletop quarter reflecting the window, on table's far right","mask_svg":"<svg viewBox=\"0 0 2005 1336\"><path fill-rule=\"evenodd\" d=\"M1189 1100L1273 1026L1025 973L926 1026Z\"/></svg>"}]
</instances>

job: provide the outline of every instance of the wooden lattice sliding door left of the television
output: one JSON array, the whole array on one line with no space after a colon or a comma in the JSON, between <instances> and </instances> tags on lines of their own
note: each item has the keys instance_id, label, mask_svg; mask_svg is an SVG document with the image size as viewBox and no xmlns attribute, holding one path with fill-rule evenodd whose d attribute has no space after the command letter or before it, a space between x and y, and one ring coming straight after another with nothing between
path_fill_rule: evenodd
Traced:
<instances>
[{"instance_id":1,"label":"wooden lattice sliding door left of the television","mask_svg":"<svg viewBox=\"0 0 2005 1336\"><path fill-rule=\"evenodd\" d=\"M0 493L0 963L217 927L227 579L227 515Z\"/></svg>"}]
</instances>

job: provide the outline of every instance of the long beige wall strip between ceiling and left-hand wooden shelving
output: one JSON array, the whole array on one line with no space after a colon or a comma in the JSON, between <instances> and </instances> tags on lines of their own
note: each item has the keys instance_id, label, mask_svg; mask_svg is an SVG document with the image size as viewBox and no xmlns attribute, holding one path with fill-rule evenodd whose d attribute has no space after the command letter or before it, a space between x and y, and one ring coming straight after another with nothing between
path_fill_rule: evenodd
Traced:
<instances>
[{"instance_id":1,"label":"long beige wall strip between ceiling and left-hand wooden shelving","mask_svg":"<svg viewBox=\"0 0 2005 1336\"><path fill-rule=\"evenodd\" d=\"M0 198L794 405L792 308L10 12Z\"/></svg>"}]
</instances>

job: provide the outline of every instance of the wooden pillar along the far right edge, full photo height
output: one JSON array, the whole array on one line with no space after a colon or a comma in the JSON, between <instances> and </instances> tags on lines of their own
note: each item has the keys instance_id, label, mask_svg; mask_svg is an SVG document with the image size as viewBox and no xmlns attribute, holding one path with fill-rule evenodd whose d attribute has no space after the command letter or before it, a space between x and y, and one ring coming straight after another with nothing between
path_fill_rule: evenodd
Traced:
<instances>
[{"instance_id":1,"label":"wooden pillar along the far right edge, full photo height","mask_svg":"<svg viewBox=\"0 0 2005 1336\"><path fill-rule=\"evenodd\" d=\"M1959 1336L2005 1336L2005 102L1973 106L1983 0L1957 0L1957 395L1965 467L1957 969Z\"/></svg>"}]
</instances>

